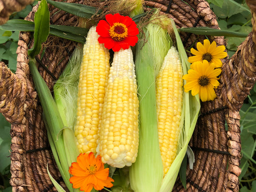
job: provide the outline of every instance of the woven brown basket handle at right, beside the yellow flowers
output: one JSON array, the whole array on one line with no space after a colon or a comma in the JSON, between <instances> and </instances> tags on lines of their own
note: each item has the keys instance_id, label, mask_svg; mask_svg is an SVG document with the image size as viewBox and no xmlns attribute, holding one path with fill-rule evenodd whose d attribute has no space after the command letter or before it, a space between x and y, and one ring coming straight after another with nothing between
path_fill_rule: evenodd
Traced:
<instances>
[{"instance_id":1,"label":"woven brown basket handle at right, beside the yellow flowers","mask_svg":"<svg viewBox=\"0 0 256 192\"><path fill-rule=\"evenodd\" d=\"M246 3L253 16L252 32L222 68L222 98L224 104L232 110L240 110L256 82L256 2L246 0Z\"/></svg>"}]
</instances>

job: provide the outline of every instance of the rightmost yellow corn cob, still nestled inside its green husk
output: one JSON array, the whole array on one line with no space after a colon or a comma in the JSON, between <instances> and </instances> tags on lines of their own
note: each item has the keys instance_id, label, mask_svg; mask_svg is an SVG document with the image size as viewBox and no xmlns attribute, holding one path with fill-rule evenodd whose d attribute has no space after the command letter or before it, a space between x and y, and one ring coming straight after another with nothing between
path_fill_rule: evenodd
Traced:
<instances>
[{"instance_id":1,"label":"rightmost yellow corn cob, still nestled inside its green husk","mask_svg":"<svg viewBox=\"0 0 256 192\"><path fill-rule=\"evenodd\" d=\"M173 46L158 73L156 88L158 138L165 175L177 152L183 95L182 64Z\"/></svg>"}]
</instances>

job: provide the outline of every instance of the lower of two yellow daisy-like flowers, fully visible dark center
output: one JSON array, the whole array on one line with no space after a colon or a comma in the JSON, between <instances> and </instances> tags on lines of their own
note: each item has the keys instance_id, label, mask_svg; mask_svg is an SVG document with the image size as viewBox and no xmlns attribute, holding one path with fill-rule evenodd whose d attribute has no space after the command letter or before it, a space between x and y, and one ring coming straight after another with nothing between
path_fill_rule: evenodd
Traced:
<instances>
[{"instance_id":1,"label":"lower of two yellow daisy-like flowers, fully visible dark center","mask_svg":"<svg viewBox=\"0 0 256 192\"><path fill-rule=\"evenodd\" d=\"M214 69L214 63L209 64L207 60L197 61L192 65L193 69L183 75L183 79L187 81L184 91L191 90L192 96L199 94L202 101L214 100L216 98L214 89L219 86L217 76L221 73L221 69Z\"/></svg>"}]
</instances>

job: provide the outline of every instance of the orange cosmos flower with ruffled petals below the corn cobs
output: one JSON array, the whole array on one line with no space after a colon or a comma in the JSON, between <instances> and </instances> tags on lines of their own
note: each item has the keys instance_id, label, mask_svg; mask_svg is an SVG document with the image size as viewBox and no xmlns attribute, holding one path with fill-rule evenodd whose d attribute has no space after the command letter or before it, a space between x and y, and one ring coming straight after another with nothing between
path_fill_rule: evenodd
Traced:
<instances>
[{"instance_id":1,"label":"orange cosmos flower with ruffled petals below the corn cobs","mask_svg":"<svg viewBox=\"0 0 256 192\"><path fill-rule=\"evenodd\" d=\"M109 168L104 168L101 157L93 153L81 153L77 162L73 162L69 168L69 173L73 175L69 181L73 188L80 188L80 191L90 192L94 187L95 190L102 190L104 187L112 187L114 180L109 177Z\"/></svg>"}]
</instances>

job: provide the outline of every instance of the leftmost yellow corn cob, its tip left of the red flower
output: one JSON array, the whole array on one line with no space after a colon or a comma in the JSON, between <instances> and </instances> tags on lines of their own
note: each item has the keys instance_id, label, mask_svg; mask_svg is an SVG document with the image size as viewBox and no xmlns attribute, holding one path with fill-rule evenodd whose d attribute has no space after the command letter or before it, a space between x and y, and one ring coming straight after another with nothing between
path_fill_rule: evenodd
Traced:
<instances>
[{"instance_id":1,"label":"leftmost yellow corn cob, its tip left of the red flower","mask_svg":"<svg viewBox=\"0 0 256 192\"><path fill-rule=\"evenodd\" d=\"M96 26L90 28L80 68L75 136L80 152L96 153L105 87L110 69L110 53L98 43Z\"/></svg>"}]
</instances>

